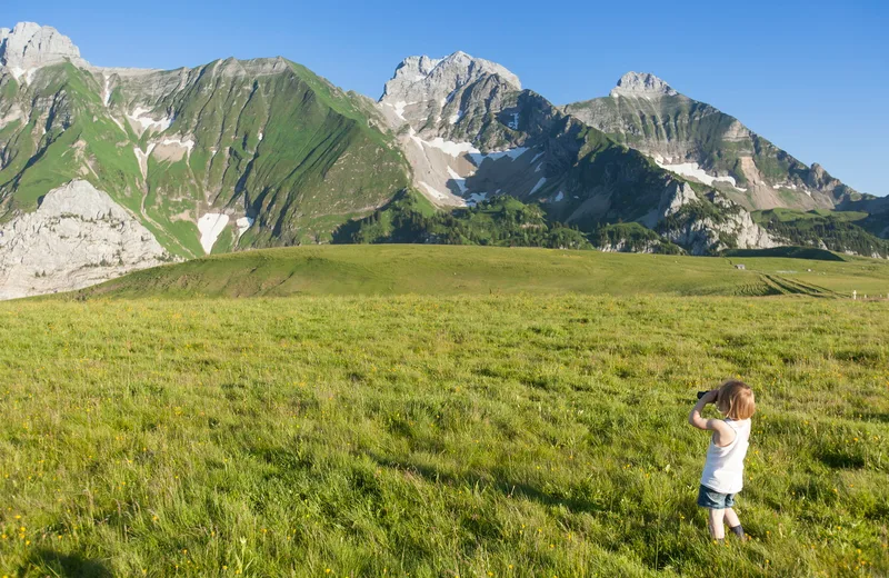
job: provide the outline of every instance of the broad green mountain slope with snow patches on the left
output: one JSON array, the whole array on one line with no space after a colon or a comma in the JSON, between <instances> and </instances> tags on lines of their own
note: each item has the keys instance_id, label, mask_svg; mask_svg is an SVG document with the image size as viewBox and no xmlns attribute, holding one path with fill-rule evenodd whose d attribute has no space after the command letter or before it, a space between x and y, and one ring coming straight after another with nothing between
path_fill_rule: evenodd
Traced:
<instances>
[{"instance_id":1,"label":"broad green mountain slope with snow patches on the left","mask_svg":"<svg viewBox=\"0 0 889 578\"><path fill-rule=\"evenodd\" d=\"M229 248L317 242L408 185L366 99L283 59L192 70L39 69L0 78L4 218L82 178L169 250L203 253L197 223L230 216ZM237 218L253 221L242 237Z\"/></svg>"}]
</instances>

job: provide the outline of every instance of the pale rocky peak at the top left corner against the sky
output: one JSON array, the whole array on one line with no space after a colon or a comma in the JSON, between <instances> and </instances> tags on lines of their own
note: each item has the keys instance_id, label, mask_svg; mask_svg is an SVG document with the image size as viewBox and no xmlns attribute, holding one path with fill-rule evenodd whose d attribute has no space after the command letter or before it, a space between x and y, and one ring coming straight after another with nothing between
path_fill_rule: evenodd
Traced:
<instances>
[{"instance_id":1,"label":"pale rocky peak at the top left corner against the sky","mask_svg":"<svg viewBox=\"0 0 889 578\"><path fill-rule=\"evenodd\" d=\"M52 27L19 22L12 30L0 29L0 64L29 70L70 60L86 64L70 38Z\"/></svg>"}]
</instances>

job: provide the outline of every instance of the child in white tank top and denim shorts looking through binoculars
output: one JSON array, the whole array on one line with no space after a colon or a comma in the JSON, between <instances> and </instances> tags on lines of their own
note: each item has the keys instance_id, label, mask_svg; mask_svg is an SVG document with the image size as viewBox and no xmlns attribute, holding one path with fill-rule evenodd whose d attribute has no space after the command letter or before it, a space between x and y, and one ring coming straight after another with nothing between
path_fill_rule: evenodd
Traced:
<instances>
[{"instance_id":1,"label":"child in white tank top and denim shorts looking through binoculars","mask_svg":"<svg viewBox=\"0 0 889 578\"><path fill-rule=\"evenodd\" d=\"M707 403L716 403L726 419L703 419L701 410ZM745 539L741 521L731 508L735 496L743 487L743 458L750 438L750 418L756 409L750 386L730 379L719 389L705 393L688 417L688 422L696 428L713 432L707 448L698 506L710 510L710 536L715 540L726 537L723 518L732 534Z\"/></svg>"}]
</instances>

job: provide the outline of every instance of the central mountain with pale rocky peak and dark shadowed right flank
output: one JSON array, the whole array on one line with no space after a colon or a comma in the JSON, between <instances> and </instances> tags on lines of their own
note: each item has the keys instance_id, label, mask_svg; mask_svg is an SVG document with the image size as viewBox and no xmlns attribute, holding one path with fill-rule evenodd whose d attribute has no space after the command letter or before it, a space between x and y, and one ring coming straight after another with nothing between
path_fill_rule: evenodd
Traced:
<instances>
[{"instance_id":1,"label":"central mountain with pale rocky peak and dark shadowed right flank","mask_svg":"<svg viewBox=\"0 0 889 578\"><path fill-rule=\"evenodd\" d=\"M510 195L548 203L562 222L636 220L672 182L637 152L521 90L503 67L462 52L406 59L379 109L399 134L416 189L441 207Z\"/></svg>"}]
</instances>

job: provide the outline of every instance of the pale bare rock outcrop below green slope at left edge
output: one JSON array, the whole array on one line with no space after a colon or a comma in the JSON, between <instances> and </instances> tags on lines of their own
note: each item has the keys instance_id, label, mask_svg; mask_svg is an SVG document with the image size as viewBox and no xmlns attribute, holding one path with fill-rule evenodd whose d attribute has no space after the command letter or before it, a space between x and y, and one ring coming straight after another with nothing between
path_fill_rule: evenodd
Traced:
<instances>
[{"instance_id":1,"label":"pale bare rock outcrop below green slope at left edge","mask_svg":"<svg viewBox=\"0 0 889 578\"><path fill-rule=\"evenodd\" d=\"M80 289L169 260L134 217L76 180L0 229L0 299Z\"/></svg>"}]
</instances>

